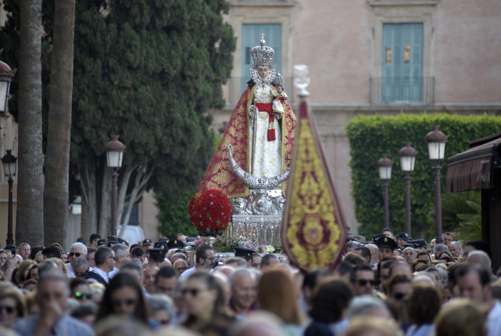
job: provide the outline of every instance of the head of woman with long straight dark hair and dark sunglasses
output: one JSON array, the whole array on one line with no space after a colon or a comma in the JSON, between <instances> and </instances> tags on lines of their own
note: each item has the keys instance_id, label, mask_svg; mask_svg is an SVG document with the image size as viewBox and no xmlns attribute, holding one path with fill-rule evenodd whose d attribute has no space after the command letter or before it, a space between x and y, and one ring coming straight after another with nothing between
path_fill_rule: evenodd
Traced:
<instances>
[{"instance_id":1,"label":"head of woman with long straight dark hair and dark sunglasses","mask_svg":"<svg viewBox=\"0 0 501 336\"><path fill-rule=\"evenodd\" d=\"M143 290L129 273L118 273L110 280L101 300L96 322L110 316L132 318L149 325Z\"/></svg>"}]
</instances>

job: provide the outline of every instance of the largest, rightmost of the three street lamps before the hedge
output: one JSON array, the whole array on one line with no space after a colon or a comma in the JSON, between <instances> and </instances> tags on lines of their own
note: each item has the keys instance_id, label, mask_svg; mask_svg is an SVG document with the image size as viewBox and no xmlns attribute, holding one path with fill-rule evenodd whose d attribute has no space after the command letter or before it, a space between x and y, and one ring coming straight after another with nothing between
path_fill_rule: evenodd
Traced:
<instances>
[{"instance_id":1,"label":"largest, rightmost of the three street lamps before the hedge","mask_svg":"<svg viewBox=\"0 0 501 336\"><path fill-rule=\"evenodd\" d=\"M434 125L433 130L426 134L428 153L433 162L435 171L435 217L436 217L436 242L442 244L442 204L440 201L440 161L445 154L445 141L447 136L438 130L439 125Z\"/></svg>"}]
</instances>

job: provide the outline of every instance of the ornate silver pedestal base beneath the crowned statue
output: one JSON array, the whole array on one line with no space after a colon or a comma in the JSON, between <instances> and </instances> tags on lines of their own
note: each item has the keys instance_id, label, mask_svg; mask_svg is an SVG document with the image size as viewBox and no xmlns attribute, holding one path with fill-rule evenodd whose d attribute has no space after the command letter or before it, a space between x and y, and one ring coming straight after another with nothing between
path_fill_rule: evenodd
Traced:
<instances>
[{"instance_id":1,"label":"ornate silver pedestal base beneath the crowned statue","mask_svg":"<svg viewBox=\"0 0 501 336\"><path fill-rule=\"evenodd\" d=\"M252 189L248 197L231 199L233 213L226 244L235 246L240 239L259 245L281 246L285 197L281 189Z\"/></svg>"}]
</instances>

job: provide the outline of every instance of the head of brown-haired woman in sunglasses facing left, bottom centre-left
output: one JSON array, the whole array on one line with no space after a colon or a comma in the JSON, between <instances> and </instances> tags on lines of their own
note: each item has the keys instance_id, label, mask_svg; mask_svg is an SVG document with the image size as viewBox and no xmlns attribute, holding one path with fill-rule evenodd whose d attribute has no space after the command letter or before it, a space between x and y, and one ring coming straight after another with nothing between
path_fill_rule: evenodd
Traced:
<instances>
[{"instance_id":1,"label":"head of brown-haired woman in sunglasses facing left, bottom centre-left","mask_svg":"<svg viewBox=\"0 0 501 336\"><path fill-rule=\"evenodd\" d=\"M226 334L234 321L217 279L207 272L191 274L181 289L181 299L188 318L187 328L205 335Z\"/></svg>"}]
</instances>

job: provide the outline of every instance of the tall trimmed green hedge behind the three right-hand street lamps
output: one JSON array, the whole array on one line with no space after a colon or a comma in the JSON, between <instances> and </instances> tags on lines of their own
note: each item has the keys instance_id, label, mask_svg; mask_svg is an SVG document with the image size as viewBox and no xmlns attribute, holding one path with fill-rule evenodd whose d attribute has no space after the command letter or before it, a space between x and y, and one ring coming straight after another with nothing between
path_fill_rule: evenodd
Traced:
<instances>
[{"instance_id":1,"label":"tall trimmed green hedge behind the three right-hand street lamps","mask_svg":"<svg viewBox=\"0 0 501 336\"><path fill-rule=\"evenodd\" d=\"M434 181L428 158L426 134L432 125L439 124L448 136L445 157L469 148L468 142L501 131L501 118L487 115L462 116L456 114L404 114L395 116L359 116L349 121L347 135L350 142L355 216L361 224L360 234L372 238L384 227L383 191L377 161L383 153L393 160L389 183L390 227L403 232L405 227L405 181L400 171L398 151L407 141L418 151L411 180L412 236L426 237L433 232ZM445 193L446 163L441 170L442 195ZM465 204L465 212L469 212ZM447 227L449 223L443 223Z\"/></svg>"}]
</instances>

